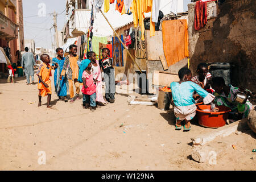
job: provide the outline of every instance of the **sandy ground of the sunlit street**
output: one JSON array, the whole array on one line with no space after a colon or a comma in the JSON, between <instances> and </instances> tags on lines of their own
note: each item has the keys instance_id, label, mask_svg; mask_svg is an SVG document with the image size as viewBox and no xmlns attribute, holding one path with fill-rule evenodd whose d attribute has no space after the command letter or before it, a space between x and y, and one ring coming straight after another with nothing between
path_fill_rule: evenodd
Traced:
<instances>
[{"instance_id":1,"label":"sandy ground of the sunlit street","mask_svg":"<svg viewBox=\"0 0 256 182\"><path fill-rule=\"evenodd\" d=\"M14 85L6 80L0 79L0 170L256 169L256 136L250 130L209 143L221 151L216 165L197 163L191 137L214 130L197 121L189 132L175 131L172 112L128 105L127 94L116 94L114 104L94 113L82 109L81 100L69 104L52 94L53 109L47 109L47 97L37 106L37 85L26 85L24 77ZM38 163L39 151L46 152L46 164Z\"/></svg>"}]
</instances>

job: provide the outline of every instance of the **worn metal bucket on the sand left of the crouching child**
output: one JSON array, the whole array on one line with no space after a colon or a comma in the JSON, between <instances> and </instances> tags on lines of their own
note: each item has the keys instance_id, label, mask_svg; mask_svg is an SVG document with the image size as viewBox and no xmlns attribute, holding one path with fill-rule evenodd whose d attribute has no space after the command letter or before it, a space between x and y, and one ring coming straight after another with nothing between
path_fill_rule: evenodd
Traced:
<instances>
[{"instance_id":1,"label":"worn metal bucket on the sand left of the crouching child","mask_svg":"<svg viewBox=\"0 0 256 182\"><path fill-rule=\"evenodd\" d=\"M159 90L158 93L158 109L160 110L169 110L171 105L171 92L163 92Z\"/></svg>"}]
</instances>

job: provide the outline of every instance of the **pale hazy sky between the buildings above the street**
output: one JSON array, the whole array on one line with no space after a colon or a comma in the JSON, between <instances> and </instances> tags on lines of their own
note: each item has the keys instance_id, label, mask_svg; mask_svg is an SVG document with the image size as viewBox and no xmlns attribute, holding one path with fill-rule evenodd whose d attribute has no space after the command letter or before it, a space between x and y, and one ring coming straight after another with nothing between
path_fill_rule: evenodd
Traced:
<instances>
[{"instance_id":1,"label":"pale hazy sky between the buildings above the street","mask_svg":"<svg viewBox=\"0 0 256 182\"><path fill-rule=\"evenodd\" d=\"M52 48L54 28L51 31L49 28L53 26L53 15L49 13L59 13L57 29L61 31L66 22L65 2L66 0L23 0L24 38L34 39L35 47ZM44 15L44 10L46 15L39 16L38 13Z\"/></svg>"}]
</instances>

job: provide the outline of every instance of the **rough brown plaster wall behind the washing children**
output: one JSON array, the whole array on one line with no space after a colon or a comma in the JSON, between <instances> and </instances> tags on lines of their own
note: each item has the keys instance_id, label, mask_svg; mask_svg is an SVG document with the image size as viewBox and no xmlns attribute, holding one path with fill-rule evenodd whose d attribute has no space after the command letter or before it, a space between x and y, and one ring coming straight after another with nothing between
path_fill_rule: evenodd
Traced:
<instances>
[{"instance_id":1,"label":"rough brown plaster wall behind the washing children","mask_svg":"<svg viewBox=\"0 0 256 182\"><path fill-rule=\"evenodd\" d=\"M229 62L232 84L256 92L255 40L256 1L226 0L218 6L217 17L208 20L207 26L194 29L195 3L188 5L189 57L195 74L202 62Z\"/></svg>"}]
</instances>

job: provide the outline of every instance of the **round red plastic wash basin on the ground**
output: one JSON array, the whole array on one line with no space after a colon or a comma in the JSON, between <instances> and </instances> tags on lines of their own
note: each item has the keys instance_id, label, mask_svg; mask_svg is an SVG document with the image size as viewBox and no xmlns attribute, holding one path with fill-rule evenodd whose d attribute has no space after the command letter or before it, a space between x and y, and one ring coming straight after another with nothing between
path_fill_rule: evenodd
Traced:
<instances>
[{"instance_id":1,"label":"round red plastic wash basin on the ground","mask_svg":"<svg viewBox=\"0 0 256 182\"><path fill-rule=\"evenodd\" d=\"M210 111L204 111L204 109L210 109L210 105L197 105L196 114L199 125L214 129L226 125L226 119L228 119L231 109L226 106L216 107L218 107L219 111L214 113Z\"/></svg>"}]
</instances>

